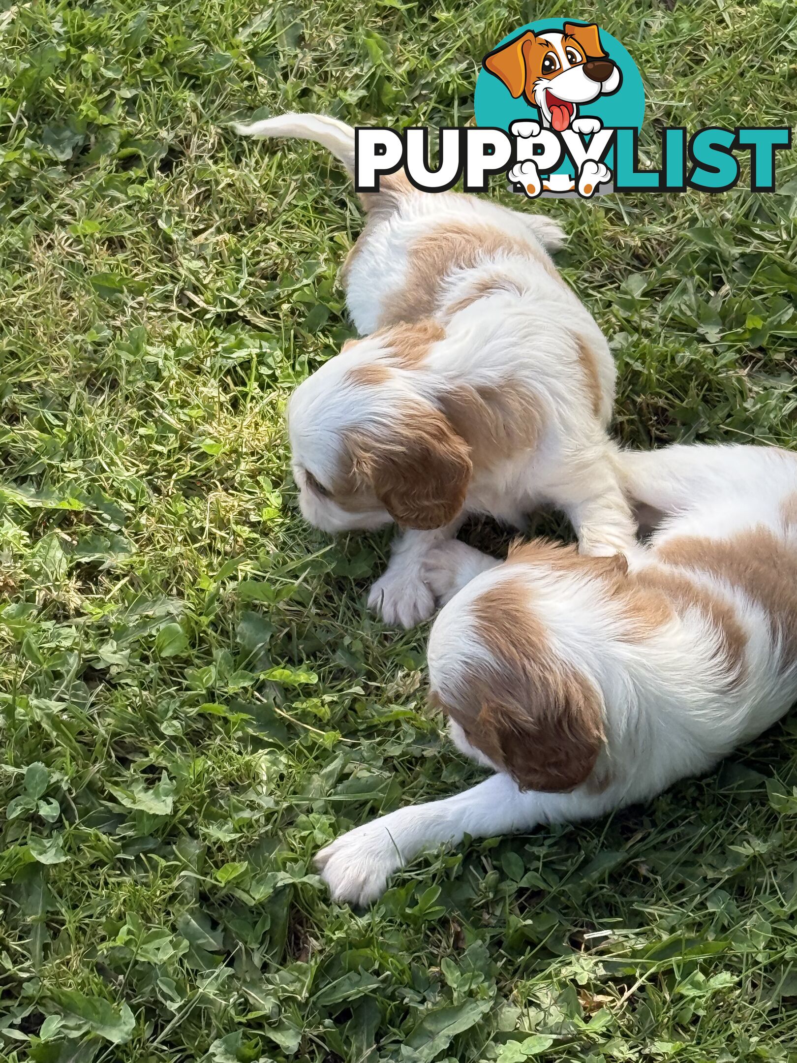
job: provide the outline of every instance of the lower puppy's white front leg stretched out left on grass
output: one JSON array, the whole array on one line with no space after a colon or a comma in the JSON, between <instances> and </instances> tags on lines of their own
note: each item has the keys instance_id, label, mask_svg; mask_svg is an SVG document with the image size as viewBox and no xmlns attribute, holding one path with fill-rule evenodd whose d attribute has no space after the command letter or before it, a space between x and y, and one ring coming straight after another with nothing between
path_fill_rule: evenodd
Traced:
<instances>
[{"instance_id":1,"label":"lower puppy's white front leg stretched out left on grass","mask_svg":"<svg viewBox=\"0 0 797 1063\"><path fill-rule=\"evenodd\" d=\"M356 827L323 848L316 866L333 900L367 905L388 877L429 846L528 830L541 823L600 815L605 795L522 793L508 775L493 775L471 790L425 805L410 805Z\"/></svg>"}]
</instances>

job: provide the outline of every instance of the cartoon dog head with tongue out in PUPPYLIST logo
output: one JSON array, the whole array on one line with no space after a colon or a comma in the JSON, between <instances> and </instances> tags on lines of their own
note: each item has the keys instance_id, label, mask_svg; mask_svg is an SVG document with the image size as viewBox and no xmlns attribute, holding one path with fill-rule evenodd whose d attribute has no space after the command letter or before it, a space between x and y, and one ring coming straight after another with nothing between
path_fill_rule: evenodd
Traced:
<instances>
[{"instance_id":1,"label":"cartoon dog head with tongue out in PUPPYLIST logo","mask_svg":"<svg viewBox=\"0 0 797 1063\"><path fill-rule=\"evenodd\" d=\"M485 56L484 67L504 82L512 97L537 107L545 125L561 133L579 103L616 92L620 67L600 45L598 28L565 22L563 30L527 30Z\"/></svg>"}]
</instances>

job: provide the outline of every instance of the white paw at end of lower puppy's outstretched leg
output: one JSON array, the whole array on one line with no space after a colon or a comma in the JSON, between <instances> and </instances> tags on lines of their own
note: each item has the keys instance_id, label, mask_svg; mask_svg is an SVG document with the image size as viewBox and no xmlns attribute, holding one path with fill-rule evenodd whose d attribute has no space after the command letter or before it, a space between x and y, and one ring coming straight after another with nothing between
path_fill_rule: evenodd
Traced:
<instances>
[{"instance_id":1,"label":"white paw at end of lower puppy's outstretched leg","mask_svg":"<svg viewBox=\"0 0 797 1063\"><path fill-rule=\"evenodd\" d=\"M359 906L381 896L402 860L387 827L375 820L321 849L315 863L333 900Z\"/></svg>"}]
</instances>

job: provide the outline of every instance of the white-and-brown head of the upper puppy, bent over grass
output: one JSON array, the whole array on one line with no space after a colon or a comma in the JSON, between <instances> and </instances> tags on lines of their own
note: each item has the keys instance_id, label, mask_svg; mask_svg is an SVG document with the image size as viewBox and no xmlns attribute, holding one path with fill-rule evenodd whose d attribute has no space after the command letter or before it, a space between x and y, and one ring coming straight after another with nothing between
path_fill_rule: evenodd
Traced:
<instances>
[{"instance_id":1,"label":"white-and-brown head of the upper puppy, bent over grass","mask_svg":"<svg viewBox=\"0 0 797 1063\"><path fill-rule=\"evenodd\" d=\"M470 449L424 394L417 365L424 342L439 336L417 326L417 343L408 347L405 332L386 330L345 344L288 404L300 506L326 532L391 520L441 527L464 503Z\"/></svg>"}]
</instances>

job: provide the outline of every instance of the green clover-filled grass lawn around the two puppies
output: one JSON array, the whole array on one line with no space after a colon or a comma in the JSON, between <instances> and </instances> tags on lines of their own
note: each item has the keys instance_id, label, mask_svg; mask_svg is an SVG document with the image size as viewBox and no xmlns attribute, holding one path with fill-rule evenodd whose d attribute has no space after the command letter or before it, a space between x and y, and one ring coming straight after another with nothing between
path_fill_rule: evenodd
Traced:
<instances>
[{"instance_id":1,"label":"green clover-filled grass lawn around the two puppies","mask_svg":"<svg viewBox=\"0 0 797 1063\"><path fill-rule=\"evenodd\" d=\"M479 774L425 707L426 628L364 610L389 535L307 528L287 471L286 395L352 333L359 209L320 149L226 123L463 123L481 55L545 15L628 47L648 159L661 123L794 117L791 0L0 2L2 1059L797 1059L793 720L644 808L425 858L363 913L312 874ZM797 445L779 172L540 207L624 440Z\"/></svg>"}]
</instances>

